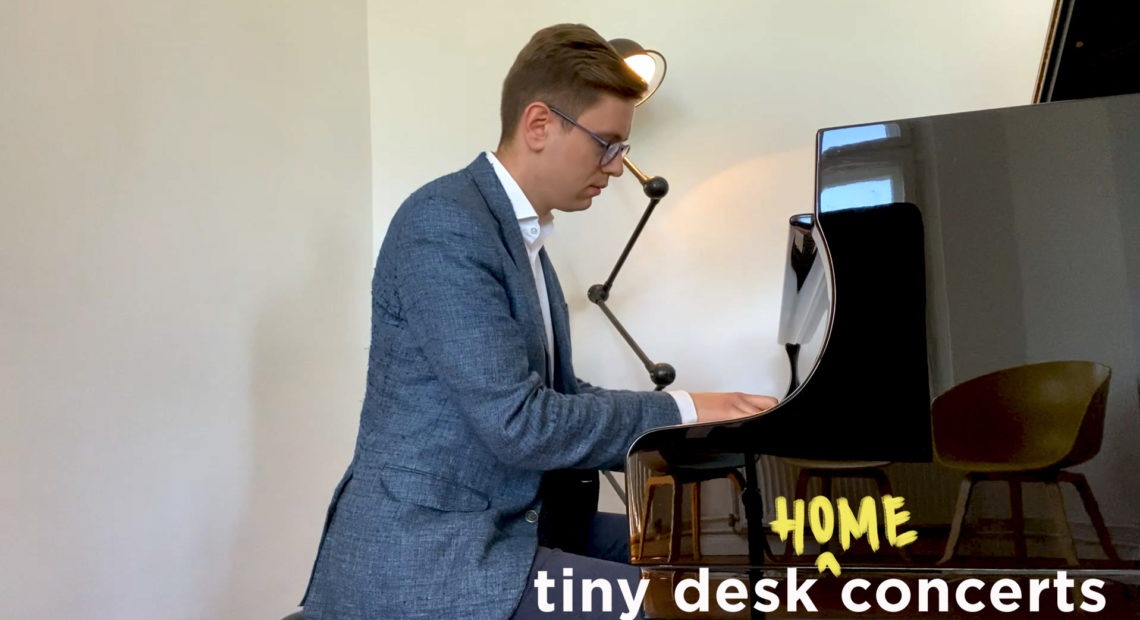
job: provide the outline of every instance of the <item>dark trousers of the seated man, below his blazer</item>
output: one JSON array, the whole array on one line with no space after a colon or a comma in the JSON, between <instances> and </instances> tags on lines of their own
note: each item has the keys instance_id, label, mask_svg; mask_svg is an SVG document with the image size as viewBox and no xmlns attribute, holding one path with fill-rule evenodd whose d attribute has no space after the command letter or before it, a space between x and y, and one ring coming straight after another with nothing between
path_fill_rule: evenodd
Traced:
<instances>
[{"instance_id":1,"label":"dark trousers of the seated man, below his blazer","mask_svg":"<svg viewBox=\"0 0 1140 620\"><path fill-rule=\"evenodd\" d=\"M545 576L539 574L542 572L545 572ZM547 582L540 588L536 585L536 580L543 577ZM585 580L605 580L609 584L609 596L604 587L591 589L592 611L585 611L587 606L583 598ZM625 580L630 593L637 592L641 581L641 569L629 564L629 521L626 515L597 513L591 523L584 555L538 547L535 562L530 566L530 576L527 578L528 587L523 590L522 601L519 602L519 607L511 619L620 618L628 610L619 580ZM569 605L567 595L570 596ZM604 611L606 602L611 604L611 611ZM544 611L544 605L546 610L553 607L553 611ZM641 609L635 611L632 618L643 618Z\"/></svg>"}]
</instances>

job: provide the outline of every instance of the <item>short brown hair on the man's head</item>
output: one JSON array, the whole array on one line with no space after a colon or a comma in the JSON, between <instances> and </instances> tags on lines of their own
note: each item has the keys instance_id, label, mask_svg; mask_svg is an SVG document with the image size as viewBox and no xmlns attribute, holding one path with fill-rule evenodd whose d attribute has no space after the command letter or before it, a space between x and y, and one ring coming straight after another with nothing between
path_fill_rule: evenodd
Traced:
<instances>
[{"instance_id":1,"label":"short brown hair on the man's head","mask_svg":"<svg viewBox=\"0 0 1140 620\"><path fill-rule=\"evenodd\" d=\"M545 27L530 38L503 80L499 144L514 137L522 111L535 101L577 119L602 93L636 100L646 88L594 28L583 24Z\"/></svg>"}]
</instances>

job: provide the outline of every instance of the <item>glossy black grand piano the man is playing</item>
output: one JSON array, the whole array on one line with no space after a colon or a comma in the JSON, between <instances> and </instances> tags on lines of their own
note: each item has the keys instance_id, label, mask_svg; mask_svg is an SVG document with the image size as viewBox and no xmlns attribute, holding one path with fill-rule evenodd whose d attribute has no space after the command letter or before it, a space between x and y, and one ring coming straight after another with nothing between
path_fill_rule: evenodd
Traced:
<instances>
[{"instance_id":1,"label":"glossy black grand piano the man is playing","mask_svg":"<svg viewBox=\"0 0 1140 620\"><path fill-rule=\"evenodd\" d=\"M714 580L751 584L788 566L821 577L813 560L822 548L785 557L769 527L774 496L788 495L773 482L784 459L890 463L896 495L952 499L958 478L931 454L931 401L974 377L1049 360L1112 368L1102 444L1080 471L1123 560L1093 554L1069 568L1132 587L1140 95L824 129L816 146L815 207L790 221L781 342L773 343L789 353L789 393L764 415L656 430L629 451L630 554L651 579L646 614L697 617L671 603L673 588L700 568ZM661 481L682 495L670 501ZM686 511L679 498L694 486L701 503ZM939 487L946 492L931 495ZM1009 506L1003 493L975 503L983 515ZM1028 495L1026 504L1032 512ZM952 506L936 508L911 515L919 540L910 556L837 553L844 577L1066 568L1048 553L1011 565L1008 553L987 554L984 544L939 565ZM1078 522L1083 513L1069 515ZM1122 598L1134 607L1134 588ZM1134 617L1133 607L1109 607L1108 617ZM724 614L750 615L763 613ZM718 617L715 605L699 617Z\"/></svg>"}]
</instances>

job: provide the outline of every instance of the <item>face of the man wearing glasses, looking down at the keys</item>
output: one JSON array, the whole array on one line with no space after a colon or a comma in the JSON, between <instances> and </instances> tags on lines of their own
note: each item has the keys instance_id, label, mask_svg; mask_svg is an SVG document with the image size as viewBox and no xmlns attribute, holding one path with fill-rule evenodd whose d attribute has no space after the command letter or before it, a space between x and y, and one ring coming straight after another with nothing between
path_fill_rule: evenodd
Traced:
<instances>
[{"instance_id":1,"label":"face of the man wearing glasses, looking down at the keys","mask_svg":"<svg viewBox=\"0 0 1140 620\"><path fill-rule=\"evenodd\" d=\"M634 120L634 103L612 95L603 95L578 119L581 128L605 141L625 141L629 138ZM543 187L551 209L583 211L610 182L610 177L621 176L621 157L601 165L604 148L581 128L551 114L551 138L545 157Z\"/></svg>"}]
</instances>

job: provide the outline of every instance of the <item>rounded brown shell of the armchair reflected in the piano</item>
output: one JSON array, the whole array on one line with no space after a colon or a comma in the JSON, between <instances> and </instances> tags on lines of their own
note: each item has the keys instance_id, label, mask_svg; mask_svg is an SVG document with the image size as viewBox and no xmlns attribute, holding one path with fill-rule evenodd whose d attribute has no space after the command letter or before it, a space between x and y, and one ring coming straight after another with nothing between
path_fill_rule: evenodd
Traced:
<instances>
[{"instance_id":1,"label":"rounded brown shell of the armchair reflected in the piano","mask_svg":"<svg viewBox=\"0 0 1140 620\"><path fill-rule=\"evenodd\" d=\"M935 456L979 471L1083 463L1100 450L1110 375L1093 361L1047 361L955 385L931 406Z\"/></svg>"}]
</instances>

